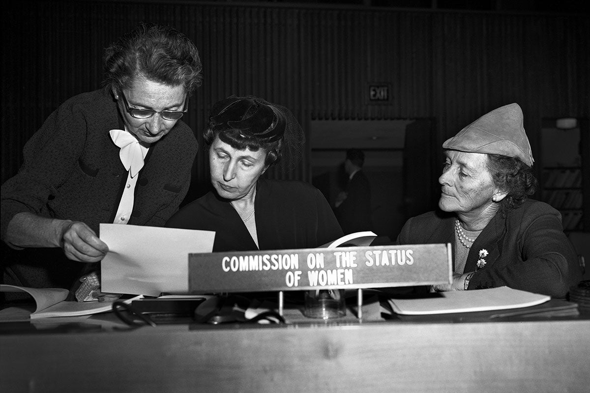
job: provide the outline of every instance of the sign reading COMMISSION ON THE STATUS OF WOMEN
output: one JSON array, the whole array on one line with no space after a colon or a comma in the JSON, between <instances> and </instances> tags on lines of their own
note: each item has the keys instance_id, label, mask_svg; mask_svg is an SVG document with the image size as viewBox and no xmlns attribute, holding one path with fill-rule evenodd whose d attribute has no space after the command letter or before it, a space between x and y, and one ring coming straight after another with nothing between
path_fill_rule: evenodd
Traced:
<instances>
[{"instance_id":1,"label":"sign reading COMMISSION ON THE STATUS OF WOMEN","mask_svg":"<svg viewBox=\"0 0 590 393\"><path fill-rule=\"evenodd\" d=\"M189 293L451 283L451 245L191 253Z\"/></svg>"}]
</instances>

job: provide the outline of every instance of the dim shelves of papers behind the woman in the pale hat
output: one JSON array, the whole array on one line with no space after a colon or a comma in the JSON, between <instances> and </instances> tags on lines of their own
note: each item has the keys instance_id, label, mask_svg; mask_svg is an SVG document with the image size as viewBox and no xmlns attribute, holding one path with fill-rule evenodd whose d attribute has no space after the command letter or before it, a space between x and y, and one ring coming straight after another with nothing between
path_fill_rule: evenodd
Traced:
<instances>
[{"instance_id":1,"label":"dim shelves of papers behind the woman in the pale hat","mask_svg":"<svg viewBox=\"0 0 590 393\"><path fill-rule=\"evenodd\" d=\"M562 214L564 232L590 232L588 120L562 129L556 119L543 119L541 131L541 200Z\"/></svg>"}]
</instances>

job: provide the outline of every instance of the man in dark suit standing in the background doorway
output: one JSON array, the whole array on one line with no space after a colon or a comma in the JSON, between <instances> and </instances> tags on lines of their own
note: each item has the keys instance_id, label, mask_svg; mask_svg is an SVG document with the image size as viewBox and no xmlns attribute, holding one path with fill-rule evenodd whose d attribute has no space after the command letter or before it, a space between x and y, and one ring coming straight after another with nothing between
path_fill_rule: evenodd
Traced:
<instances>
[{"instance_id":1,"label":"man in dark suit standing in the background doorway","mask_svg":"<svg viewBox=\"0 0 590 393\"><path fill-rule=\"evenodd\" d=\"M335 214L345 234L372 230L371 186L362 170L365 154L358 148L346 151L344 170L348 174L345 191L336 197Z\"/></svg>"}]
</instances>

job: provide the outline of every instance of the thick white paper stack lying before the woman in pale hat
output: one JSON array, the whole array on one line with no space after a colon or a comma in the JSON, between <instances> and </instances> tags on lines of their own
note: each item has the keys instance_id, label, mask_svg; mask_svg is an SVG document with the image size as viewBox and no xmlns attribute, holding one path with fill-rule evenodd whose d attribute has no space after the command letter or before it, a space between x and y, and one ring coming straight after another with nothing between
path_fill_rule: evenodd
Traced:
<instances>
[{"instance_id":1,"label":"thick white paper stack lying before the woman in pale hat","mask_svg":"<svg viewBox=\"0 0 590 393\"><path fill-rule=\"evenodd\" d=\"M427 315L454 312L491 311L536 306L551 297L507 286L433 293L419 299L389 299L398 314Z\"/></svg>"}]
</instances>

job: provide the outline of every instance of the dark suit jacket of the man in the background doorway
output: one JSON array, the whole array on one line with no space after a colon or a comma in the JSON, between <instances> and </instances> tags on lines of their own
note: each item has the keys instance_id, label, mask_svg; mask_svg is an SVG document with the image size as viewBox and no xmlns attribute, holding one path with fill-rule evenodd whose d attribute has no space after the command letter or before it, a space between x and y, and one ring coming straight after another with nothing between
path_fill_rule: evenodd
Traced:
<instances>
[{"instance_id":1,"label":"dark suit jacket of the man in the background doorway","mask_svg":"<svg viewBox=\"0 0 590 393\"><path fill-rule=\"evenodd\" d=\"M362 170L357 171L346 186L346 199L336 207L335 214L344 233L372 230L371 185Z\"/></svg>"}]
</instances>

